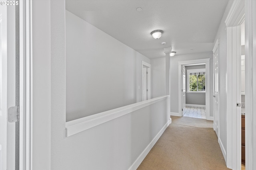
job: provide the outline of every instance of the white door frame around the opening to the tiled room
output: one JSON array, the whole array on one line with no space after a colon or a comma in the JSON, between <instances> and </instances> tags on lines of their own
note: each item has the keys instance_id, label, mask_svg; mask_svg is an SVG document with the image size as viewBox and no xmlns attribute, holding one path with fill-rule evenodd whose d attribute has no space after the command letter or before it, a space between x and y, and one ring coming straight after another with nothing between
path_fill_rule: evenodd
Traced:
<instances>
[{"instance_id":1,"label":"white door frame around the opening to the tiled room","mask_svg":"<svg viewBox=\"0 0 256 170\"><path fill-rule=\"evenodd\" d=\"M188 60L188 61L179 61L178 62L178 106L179 106L179 115L182 116L182 65L191 66L191 65L200 65L205 64L206 70L206 92L205 92L205 109L206 109L206 120L213 120L213 117L210 117L210 58L207 59L197 59L197 60Z\"/></svg>"}]
</instances>

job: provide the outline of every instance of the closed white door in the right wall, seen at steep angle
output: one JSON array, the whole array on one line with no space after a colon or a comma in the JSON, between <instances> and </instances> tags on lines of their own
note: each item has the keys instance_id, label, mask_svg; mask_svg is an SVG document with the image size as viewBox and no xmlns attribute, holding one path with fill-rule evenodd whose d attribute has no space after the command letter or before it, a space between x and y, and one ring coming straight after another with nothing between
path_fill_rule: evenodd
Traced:
<instances>
[{"instance_id":1,"label":"closed white door in the right wall, seen at steep angle","mask_svg":"<svg viewBox=\"0 0 256 170\"><path fill-rule=\"evenodd\" d=\"M216 135L219 137L219 70L218 70L218 47L214 51L213 54L213 62L214 62L214 75L213 75L213 102L214 102L214 130Z\"/></svg>"}]
</instances>

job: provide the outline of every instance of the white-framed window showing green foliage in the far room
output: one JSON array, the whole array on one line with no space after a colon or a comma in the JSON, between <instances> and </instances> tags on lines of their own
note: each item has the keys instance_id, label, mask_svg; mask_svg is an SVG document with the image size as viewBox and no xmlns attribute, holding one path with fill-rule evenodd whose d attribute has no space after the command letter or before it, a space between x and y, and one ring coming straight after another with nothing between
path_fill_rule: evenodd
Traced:
<instances>
[{"instance_id":1,"label":"white-framed window showing green foliage in the far room","mask_svg":"<svg viewBox=\"0 0 256 170\"><path fill-rule=\"evenodd\" d=\"M205 69L187 70L188 91L205 92Z\"/></svg>"}]
</instances>

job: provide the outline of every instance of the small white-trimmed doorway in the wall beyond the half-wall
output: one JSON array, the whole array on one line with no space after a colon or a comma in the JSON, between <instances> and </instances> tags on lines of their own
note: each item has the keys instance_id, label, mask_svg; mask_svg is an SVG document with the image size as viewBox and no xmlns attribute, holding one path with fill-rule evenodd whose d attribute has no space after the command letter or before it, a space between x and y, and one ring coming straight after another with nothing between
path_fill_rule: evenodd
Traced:
<instances>
[{"instance_id":1,"label":"small white-trimmed doorway in the wall beyond the half-wall","mask_svg":"<svg viewBox=\"0 0 256 170\"><path fill-rule=\"evenodd\" d=\"M151 87L150 87L150 67L149 63L142 61L142 101L148 100L151 97Z\"/></svg>"}]
</instances>

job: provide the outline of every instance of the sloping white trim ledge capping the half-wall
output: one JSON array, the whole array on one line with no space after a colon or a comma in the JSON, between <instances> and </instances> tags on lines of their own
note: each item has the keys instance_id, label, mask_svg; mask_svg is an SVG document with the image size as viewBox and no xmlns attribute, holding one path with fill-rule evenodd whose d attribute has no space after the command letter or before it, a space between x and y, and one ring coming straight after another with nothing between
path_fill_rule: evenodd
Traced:
<instances>
[{"instance_id":1,"label":"sloping white trim ledge capping the half-wall","mask_svg":"<svg viewBox=\"0 0 256 170\"><path fill-rule=\"evenodd\" d=\"M119 107L116 109L104 111L101 113L97 113L94 115L82 117L80 119L75 119L72 121L66 122L66 137L71 135L75 135L76 133L80 133L107 121L111 121L120 116L126 115L143 107L149 106L156 102L160 102L162 100L166 100L170 98L170 96L160 96L158 98L153 98L150 100L145 100L142 102L138 102L135 104L130 104L127 106Z\"/></svg>"}]
</instances>

